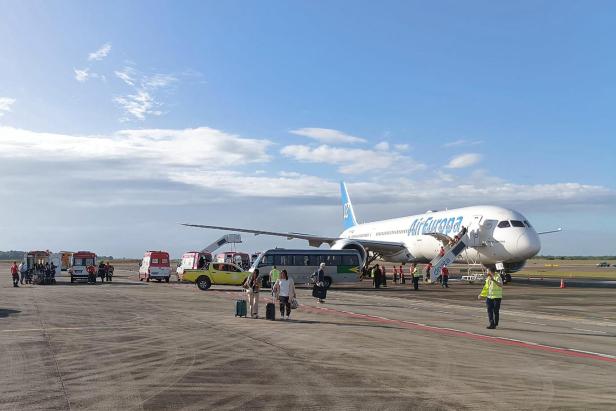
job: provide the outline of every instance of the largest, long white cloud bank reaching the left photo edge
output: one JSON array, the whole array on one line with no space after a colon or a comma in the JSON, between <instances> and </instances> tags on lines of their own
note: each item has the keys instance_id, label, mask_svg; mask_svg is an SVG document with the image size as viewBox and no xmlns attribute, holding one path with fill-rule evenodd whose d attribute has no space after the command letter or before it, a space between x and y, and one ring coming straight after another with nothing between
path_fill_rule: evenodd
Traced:
<instances>
[{"instance_id":1,"label":"largest, long white cloud bank reaching the left photo edge","mask_svg":"<svg viewBox=\"0 0 616 411\"><path fill-rule=\"evenodd\" d=\"M144 167L216 169L270 160L268 140L242 138L209 127L120 130L73 136L0 127L0 158L46 161L130 160ZM142 164L143 163L143 164Z\"/></svg>"}]
</instances>

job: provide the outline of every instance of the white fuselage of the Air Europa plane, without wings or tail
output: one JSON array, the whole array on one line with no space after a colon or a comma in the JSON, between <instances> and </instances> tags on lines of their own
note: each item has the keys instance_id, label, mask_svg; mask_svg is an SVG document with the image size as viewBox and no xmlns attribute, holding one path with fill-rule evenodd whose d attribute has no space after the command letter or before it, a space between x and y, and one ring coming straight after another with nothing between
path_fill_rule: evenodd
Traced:
<instances>
[{"instance_id":1,"label":"white fuselage of the Air Europa plane, without wings or tail","mask_svg":"<svg viewBox=\"0 0 616 411\"><path fill-rule=\"evenodd\" d=\"M462 227L469 230L471 238L462 257L484 265L502 262L516 271L516 265L521 268L541 249L537 232L522 214L496 206L465 207L358 224L343 231L340 237L401 242L408 253L384 254L383 258L390 262L423 263L436 257L442 245L428 233L454 237Z\"/></svg>"}]
</instances>

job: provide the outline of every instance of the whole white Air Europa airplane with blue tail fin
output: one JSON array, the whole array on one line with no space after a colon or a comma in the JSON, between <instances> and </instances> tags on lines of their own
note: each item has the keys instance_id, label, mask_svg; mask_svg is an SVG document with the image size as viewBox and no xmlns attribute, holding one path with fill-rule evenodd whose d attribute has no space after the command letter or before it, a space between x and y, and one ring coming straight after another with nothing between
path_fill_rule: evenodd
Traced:
<instances>
[{"instance_id":1,"label":"whole white Air Europa airplane with blue tail fin","mask_svg":"<svg viewBox=\"0 0 616 411\"><path fill-rule=\"evenodd\" d=\"M323 243L332 249L357 250L366 261L368 253L392 263L432 262L432 277L454 261L482 264L486 268L519 271L541 249L539 234L519 212L496 206L473 206L358 224L346 184L340 183L344 231L338 237L281 233L245 228L183 224L190 227L272 235ZM441 248L442 247L442 248ZM501 266L502 264L502 266Z\"/></svg>"}]
</instances>

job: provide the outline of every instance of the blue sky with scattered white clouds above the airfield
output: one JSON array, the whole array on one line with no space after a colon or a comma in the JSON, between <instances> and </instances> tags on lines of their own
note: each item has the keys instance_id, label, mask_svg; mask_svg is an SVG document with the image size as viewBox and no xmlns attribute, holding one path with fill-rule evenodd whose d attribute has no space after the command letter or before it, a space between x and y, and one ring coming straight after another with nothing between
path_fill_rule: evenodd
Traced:
<instances>
[{"instance_id":1,"label":"blue sky with scattered white clouds above the airfield","mask_svg":"<svg viewBox=\"0 0 616 411\"><path fill-rule=\"evenodd\" d=\"M508 205L616 254L612 2L0 7L0 249L335 235L344 179L362 220Z\"/></svg>"}]
</instances>

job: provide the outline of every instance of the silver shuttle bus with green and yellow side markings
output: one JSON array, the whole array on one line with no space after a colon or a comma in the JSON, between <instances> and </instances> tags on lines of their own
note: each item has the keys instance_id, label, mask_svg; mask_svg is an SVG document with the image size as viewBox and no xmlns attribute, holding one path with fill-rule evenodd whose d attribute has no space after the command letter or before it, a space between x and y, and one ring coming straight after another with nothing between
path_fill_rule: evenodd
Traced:
<instances>
[{"instance_id":1,"label":"silver shuttle bus with green and yellow side markings","mask_svg":"<svg viewBox=\"0 0 616 411\"><path fill-rule=\"evenodd\" d=\"M276 248L261 253L249 271L258 268L265 287L271 287L269 273L274 266L287 270L295 284L306 284L321 263L325 263L325 286L329 288L336 283L359 281L364 261L357 250Z\"/></svg>"}]
</instances>

